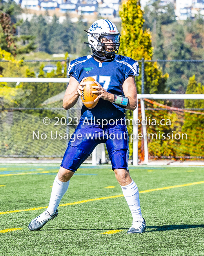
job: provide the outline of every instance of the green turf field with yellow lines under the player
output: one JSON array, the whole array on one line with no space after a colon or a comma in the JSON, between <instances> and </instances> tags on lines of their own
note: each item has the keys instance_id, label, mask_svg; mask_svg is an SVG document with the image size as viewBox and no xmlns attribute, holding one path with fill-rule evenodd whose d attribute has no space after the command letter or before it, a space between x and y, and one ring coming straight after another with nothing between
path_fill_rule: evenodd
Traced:
<instances>
[{"instance_id":1,"label":"green turf field with yellow lines under the player","mask_svg":"<svg viewBox=\"0 0 204 256\"><path fill-rule=\"evenodd\" d=\"M204 168L130 167L144 191L140 204L147 229L127 235L131 213L124 197L113 197L122 190L111 168L81 167L58 217L30 231L29 222L44 211L36 208L49 204L57 171L58 165L0 165L0 255L204 255L204 182L198 183ZM183 184L188 186L171 188ZM94 198L100 200L86 201Z\"/></svg>"}]
</instances>

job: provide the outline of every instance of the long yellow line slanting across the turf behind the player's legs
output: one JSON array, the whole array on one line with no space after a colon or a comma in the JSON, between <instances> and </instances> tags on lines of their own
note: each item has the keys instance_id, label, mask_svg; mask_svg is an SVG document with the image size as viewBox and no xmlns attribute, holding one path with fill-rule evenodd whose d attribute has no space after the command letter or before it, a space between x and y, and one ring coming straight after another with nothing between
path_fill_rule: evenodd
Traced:
<instances>
[{"instance_id":1,"label":"long yellow line slanting across the turf behind the player's legs","mask_svg":"<svg viewBox=\"0 0 204 256\"><path fill-rule=\"evenodd\" d=\"M193 183L182 184L182 185L176 185L176 186L170 186L170 187L159 187L159 188L154 188L154 189L148 189L148 190L144 190L144 191L139 191L139 193L142 194L142 193L148 193L148 192L152 192L152 191L171 189L171 188L175 188L175 187L186 187L186 186L192 186L192 185L198 185L198 184L204 184L204 181L193 182ZM77 201L77 202L72 202L72 203L67 203L67 204L60 204L59 206L82 204L82 203L87 203L87 202L93 202L93 201L105 200L105 199L109 199L109 198L117 198L117 197L123 197L123 196L124 195L116 195L116 196L110 196L110 197L93 198L93 199L87 199L87 200L82 200L82 201ZM48 206L42 206L42 207L38 207L38 208L29 208L29 209L24 209L24 210L2 211L2 212L0 212L0 215L1 214L7 214L7 213L21 212L21 211L36 211L36 210L46 209L47 207Z\"/></svg>"}]
</instances>

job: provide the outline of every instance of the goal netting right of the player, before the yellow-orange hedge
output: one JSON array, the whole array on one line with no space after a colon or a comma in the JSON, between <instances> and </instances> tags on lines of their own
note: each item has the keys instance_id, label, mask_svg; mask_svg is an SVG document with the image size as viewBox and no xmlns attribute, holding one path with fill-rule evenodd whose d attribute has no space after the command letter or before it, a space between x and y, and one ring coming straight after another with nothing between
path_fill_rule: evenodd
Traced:
<instances>
[{"instance_id":1,"label":"goal netting right of the player, before the yellow-orange hedge","mask_svg":"<svg viewBox=\"0 0 204 256\"><path fill-rule=\"evenodd\" d=\"M204 100L144 98L144 106L145 120L139 100L138 134L144 135L143 125L147 134L138 139L139 161L145 160L145 143L148 159L204 159Z\"/></svg>"}]
</instances>

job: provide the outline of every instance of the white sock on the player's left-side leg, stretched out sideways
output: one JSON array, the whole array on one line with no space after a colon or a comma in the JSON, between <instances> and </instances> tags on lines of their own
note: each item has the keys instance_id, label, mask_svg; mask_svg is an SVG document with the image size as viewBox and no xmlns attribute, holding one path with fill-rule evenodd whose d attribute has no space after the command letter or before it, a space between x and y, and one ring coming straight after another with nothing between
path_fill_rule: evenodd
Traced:
<instances>
[{"instance_id":1,"label":"white sock on the player's left-side leg, stretched out sideways","mask_svg":"<svg viewBox=\"0 0 204 256\"><path fill-rule=\"evenodd\" d=\"M52 193L49 201L49 206L47 208L47 211L51 216L55 213L68 187L69 187L69 181L62 182L58 179L58 176L55 177L55 180L53 182L53 189L52 189Z\"/></svg>"}]
</instances>

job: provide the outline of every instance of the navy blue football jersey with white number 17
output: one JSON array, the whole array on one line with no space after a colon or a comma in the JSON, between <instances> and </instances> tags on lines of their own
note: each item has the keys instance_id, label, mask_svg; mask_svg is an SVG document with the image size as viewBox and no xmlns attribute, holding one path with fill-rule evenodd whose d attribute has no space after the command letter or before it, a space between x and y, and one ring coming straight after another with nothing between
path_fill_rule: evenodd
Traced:
<instances>
[{"instance_id":1,"label":"navy blue football jersey with white number 17","mask_svg":"<svg viewBox=\"0 0 204 256\"><path fill-rule=\"evenodd\" d=\"M122 55L116 55L113 61L99 63L92 55L77 58L69 63L68 76L73 76L80 83L84 77L91 76L109 93L124 96L122 85L130 75L139 75L138 62ZM117 120L125 117L125 109L100 98L93 109L84 105L81 119Z\"/></svg>"}]
</instances>

